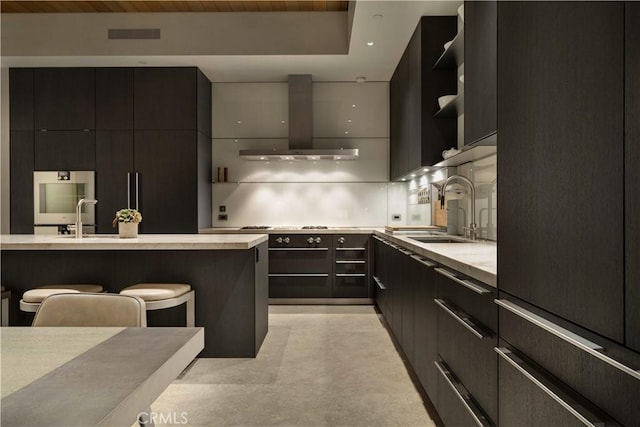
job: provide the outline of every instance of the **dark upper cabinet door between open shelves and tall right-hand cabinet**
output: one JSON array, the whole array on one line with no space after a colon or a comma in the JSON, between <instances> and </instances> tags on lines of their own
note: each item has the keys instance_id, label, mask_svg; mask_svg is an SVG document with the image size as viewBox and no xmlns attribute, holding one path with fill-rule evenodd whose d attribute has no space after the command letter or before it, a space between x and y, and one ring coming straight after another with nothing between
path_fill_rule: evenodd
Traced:
<instances>
[{"instance_id":1,"label":"dark upper cabinet door between open shelves and tall right-hand cabinet","mask_svg":"<svg viewBox=\"0 0 640 427\"><path fill-rule=\"evenodd\" d=\"M464 143L496 132L498 2L464 3Z\"/></svg>"}]
</instances>

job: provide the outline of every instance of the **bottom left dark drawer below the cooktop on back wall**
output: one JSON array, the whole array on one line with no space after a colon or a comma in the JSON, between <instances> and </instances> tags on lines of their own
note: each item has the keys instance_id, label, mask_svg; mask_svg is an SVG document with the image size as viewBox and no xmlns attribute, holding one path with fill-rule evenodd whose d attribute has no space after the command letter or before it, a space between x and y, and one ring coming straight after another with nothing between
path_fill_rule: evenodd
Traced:
<instances>
[{"instance_id":1,"label":"bottom left dark drawer below the cooktop on back wall","mask_svg":"<svg viewBox=\"0 0 640 427\"><path fill-rule=\"evenodd\" d=\"M269 274L269 298L330 298L329 275Z\"/></svg>"}]
</instances>

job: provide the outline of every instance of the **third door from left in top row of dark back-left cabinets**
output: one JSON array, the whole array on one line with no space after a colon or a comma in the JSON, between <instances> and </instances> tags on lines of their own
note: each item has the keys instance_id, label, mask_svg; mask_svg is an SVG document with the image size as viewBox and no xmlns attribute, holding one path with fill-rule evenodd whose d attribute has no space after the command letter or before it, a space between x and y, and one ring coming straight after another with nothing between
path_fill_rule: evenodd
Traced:
<instances>
[{"instance_id":1,"label":"third door from left in top row of dark back-left cabinets","mask_svg":"<svg viewBox=\"0 0 640 427\"><path fill-rule=\"evenodd\" d=\"M96 68L96 129L133 129L133 68Z\"/></svg>"}]
</instances>

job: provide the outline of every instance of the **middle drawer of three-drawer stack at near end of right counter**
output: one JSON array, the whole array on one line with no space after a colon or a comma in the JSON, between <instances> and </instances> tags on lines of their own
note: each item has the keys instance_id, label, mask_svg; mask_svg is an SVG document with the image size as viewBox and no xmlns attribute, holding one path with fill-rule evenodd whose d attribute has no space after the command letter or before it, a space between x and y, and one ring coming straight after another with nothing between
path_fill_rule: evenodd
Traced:
<instances>
[{"instance_id":1,"label":"middle drawer of three-drawer stack at near end of right counter","mask_svg":"<svg viewBox=\"0 0 640 427\"><path fill-rule=\"evenodd\" d=\"M498 419L498 362L493 331L446 299L438 305L438 353L490 419ZM440 412L440 401L438 401ZM448 424L447 424L448 425Z\"/></svg>"}]
</instances>

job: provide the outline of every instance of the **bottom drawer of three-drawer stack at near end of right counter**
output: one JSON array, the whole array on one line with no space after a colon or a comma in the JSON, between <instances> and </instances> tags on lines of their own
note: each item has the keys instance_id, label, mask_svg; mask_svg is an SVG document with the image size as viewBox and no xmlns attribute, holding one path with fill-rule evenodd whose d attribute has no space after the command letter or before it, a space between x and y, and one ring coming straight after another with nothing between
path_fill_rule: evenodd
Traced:
<instances>
[{"instance_id":1,"label":"bottom drawer of three-drawer stack at near end of right counter","mask_svg":"<svg viewBox=\"0 0 640 427\"><path fill-rule=\"evenodd\" d=\"M447 427L494 425L445 361L434 362L438 372L438 414Z\"/></svg>"}]
</instances>

